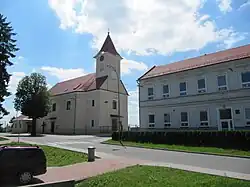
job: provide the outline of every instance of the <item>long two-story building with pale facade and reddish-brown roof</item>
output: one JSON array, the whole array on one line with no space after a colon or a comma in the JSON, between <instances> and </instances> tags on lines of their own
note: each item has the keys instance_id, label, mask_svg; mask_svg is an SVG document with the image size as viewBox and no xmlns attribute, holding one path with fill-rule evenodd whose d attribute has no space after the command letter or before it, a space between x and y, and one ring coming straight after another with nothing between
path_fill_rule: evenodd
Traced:
<instances>
[{"instance_id":1,"label":"long two-story building with pale facade and reddish-brown roof","mask_svg":"<svg viewBox=\"0 0 250 187\"><path fill-rule=\"evenodd\" d=\"M142 129L250 129L250 45L154 66L138 85Z\"/></svg>"}]
</instances>

